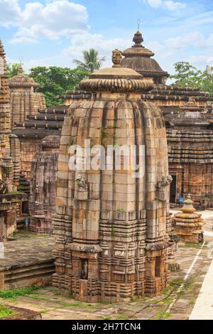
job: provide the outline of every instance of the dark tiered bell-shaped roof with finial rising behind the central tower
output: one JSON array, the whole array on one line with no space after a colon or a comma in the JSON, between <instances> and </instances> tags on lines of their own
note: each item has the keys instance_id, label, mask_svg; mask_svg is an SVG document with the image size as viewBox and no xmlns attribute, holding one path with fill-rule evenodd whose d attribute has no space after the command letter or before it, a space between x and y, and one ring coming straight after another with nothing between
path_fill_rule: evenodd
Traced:
<instances>
[{"instance_id":1,"label":"dark tiered bell-shaped roof with finial rising behind the central tower","mask_svg":"<svg viewBox=\"0 0 213 334\"><path fill-rule=\"evenodd\" d=\"M137 31L133 36L133 42L133 46L122 53L124 58L121 65L124 68L132 68L143 75L145 79L153 80L155 84L165 83L169 74L160 68L155 59L151 58L155 53L142 45L143 37L140 31Z\"/></svg>"}]
</instances>

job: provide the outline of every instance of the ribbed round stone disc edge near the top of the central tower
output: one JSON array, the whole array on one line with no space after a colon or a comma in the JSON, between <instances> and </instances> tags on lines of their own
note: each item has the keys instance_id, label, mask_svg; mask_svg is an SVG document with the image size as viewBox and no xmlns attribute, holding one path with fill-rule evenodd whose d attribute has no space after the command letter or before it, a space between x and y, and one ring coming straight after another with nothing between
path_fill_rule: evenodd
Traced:
<instances>
[{"instance_id":1,"label":"ribbed round stone disc edge near the top of the central tower","mask_svg":"<svg viewBox=\"0 0 213 334\"><path fill-rule=\"evenodd\" d=\"M151 80L134 79L86 79L80 82L80 88L90 92L148 92L153 88Z\"/></svg>"}]
</instances>

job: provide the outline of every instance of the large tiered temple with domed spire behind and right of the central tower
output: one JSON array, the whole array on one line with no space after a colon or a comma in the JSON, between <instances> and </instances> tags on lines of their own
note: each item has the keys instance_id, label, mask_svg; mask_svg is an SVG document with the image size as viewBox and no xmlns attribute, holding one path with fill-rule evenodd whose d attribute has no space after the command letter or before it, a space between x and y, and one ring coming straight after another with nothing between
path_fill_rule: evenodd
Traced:
<instances>
[{"instance_id":1,"label":"large tiered temple with domed spire behind and right of the central tower","mask_svg":"<svg viewBox=\"0 0 213 334\"><path fill-rule=\"evenodd\" d=\"M170 202L176 203L178 198L191 193L196 205L202 205L203 201L210 205L213 185L210 131L213 117L210 102L213 97L196 88L165 85L169 75L151 58L154 54L143 47L139 31L133 41L135 44L132 48L123 52L121 63L155 82L152 90L141 92L141 98L154 102L163 112L167 128L169 171L173 176ZM189 100L195 101L196 105L190 107L187 104ZM182 111L187 105L191 108L191 112L188 109L189 113ZM204 111L207 114L202 114ZM195 149L192 152L193 147Z\"/></svg>"}]
</instances>

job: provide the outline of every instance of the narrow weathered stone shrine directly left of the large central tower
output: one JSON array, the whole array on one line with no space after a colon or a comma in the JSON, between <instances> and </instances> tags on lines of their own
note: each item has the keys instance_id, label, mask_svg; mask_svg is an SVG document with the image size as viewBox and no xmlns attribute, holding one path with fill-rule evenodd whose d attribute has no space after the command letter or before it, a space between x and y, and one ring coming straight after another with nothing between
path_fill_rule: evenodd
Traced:
<instances>
[{"instance_id":1,"label":"narrow weathered stone shrine directly left of the large central tower","mask_svg":"<svg viewBox=\"0 0 213 334\"><path fill-rule=\"evenodd\" d=\"M53 231L59 143L58 136L45 137L40 144L40 151L33 158L29 209L30 230L34 232Z\"/></svg>"}]
</instances>

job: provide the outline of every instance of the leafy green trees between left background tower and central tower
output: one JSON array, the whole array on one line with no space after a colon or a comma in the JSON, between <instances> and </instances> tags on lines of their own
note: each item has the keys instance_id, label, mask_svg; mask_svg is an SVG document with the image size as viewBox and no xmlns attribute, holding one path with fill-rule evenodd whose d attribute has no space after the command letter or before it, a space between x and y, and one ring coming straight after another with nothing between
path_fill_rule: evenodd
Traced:
<instances>
[{"instance_id":1,"label":"leafy green trees between left background tower and central tower","mask_svg":"<svg viewBox=\"0 0 213 334\"><path fill-rule=\"evenodd\" d=\"M43 92L48 107L62 104L67 90L75 87L89 75L89 72L80 68L60 68L57 66L38 66L31 68L30 77L40 85L38 92Z\"/></svg>"}]
</instances>

